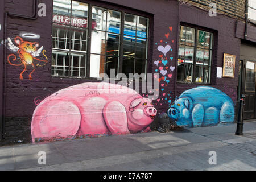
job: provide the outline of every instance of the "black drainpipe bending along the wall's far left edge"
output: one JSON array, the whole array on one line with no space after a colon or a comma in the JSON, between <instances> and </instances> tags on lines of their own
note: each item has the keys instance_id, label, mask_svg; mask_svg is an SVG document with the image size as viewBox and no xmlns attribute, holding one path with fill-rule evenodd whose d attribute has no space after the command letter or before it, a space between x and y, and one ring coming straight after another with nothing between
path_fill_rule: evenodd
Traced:
<instances>
[{"instance_id":1,"label":"black drainpipe bending along the wall's far left edge","mask_svg":"<svg viewBox=\"0 0 256 182\"><path fill-rule=\"evenodd\" d=\"M3 1L4 2L4 1ZM32 16L22 15L22 14L16 14L16 13L9 13L5 12L5 32L3 36L3 41L5 43L5 40L7 40L7 18L8 16L14 17L14 18L24 18L29 20L36 20L38 18L38 0L34 0L33 3L33 14ZM4 78L3 78L3 116L1 118L2 122L2 134L1 134L1 140L4 139L4 133L5 133L5 116L6 116L6 44L3 46L3 56L4 56Z\"/></svg>"}]
</instances>

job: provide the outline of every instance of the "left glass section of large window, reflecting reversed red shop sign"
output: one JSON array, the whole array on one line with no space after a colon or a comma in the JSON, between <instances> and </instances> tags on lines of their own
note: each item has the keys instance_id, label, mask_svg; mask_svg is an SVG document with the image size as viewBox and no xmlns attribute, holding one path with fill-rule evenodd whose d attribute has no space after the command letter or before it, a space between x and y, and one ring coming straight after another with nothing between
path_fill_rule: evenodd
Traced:
<instances>
[{"instance_id":1,"label":"left glass section of large window, reflecting reversed red shop sign","mask_svg":"<svg viewBox=\"0 0 256 182\"><path fill-rule=\"evenodd\" d=\"M87 17L86 3L53 1L52 75L86 76Z\"/></svg>"}]
</instances>

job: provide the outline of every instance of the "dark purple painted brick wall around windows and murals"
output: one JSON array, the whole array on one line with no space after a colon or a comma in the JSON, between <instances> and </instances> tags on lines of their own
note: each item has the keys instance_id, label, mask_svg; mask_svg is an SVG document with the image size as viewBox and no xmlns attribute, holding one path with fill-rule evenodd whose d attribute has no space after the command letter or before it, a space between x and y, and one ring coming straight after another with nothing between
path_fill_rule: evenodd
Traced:
<instances>
[{"instance_id":1,"label":"dark purple painted brick wall around windows and murals","mask_svg":"<svg viewBox=\"0 0 256 182\"><path fill-rule=\"evenodd\" d=\"M31 0L30 0L31 1ZM28 0L5 0L5 11L15 12L20 14L32 14L32 7L28 5ZM46 55L49 62L44 67L38 67L33 74L32 81L24 76L24 80L19 80L19 73L23 68L13 67L7 64L7 96L6 96L6 127L5 127L5 141L14 143L30 142L30 122L32 113L36 107L34 104L35 97L44 98L62 88L71 85L76 85L81 82L93 82L89 79L72 79L72 78L52 78L51 77L51 31L52 31L52 1L40 0L47 5L47 16L39 17L36 20L26 20L19 18L8 18L7 36L15 38L21 32L34 32L40 35L40 39L36 40L40 46L46 49ZM90 1L91 2L91 1ZM237 97L237 84L238 84L238 60L240 55L240 39L235 38L235 24L236 20L228 16L218 15L217 17L209 17L208 12L200 10L196 7L187 5L179 5L178 1L166 0L106 0L102 3L114 3L117 6L125 6L129 9L136 11L143 11L154 15L154 34L152 38L152 57L148 60L151 65L151 72L157 68L154 64L155 60L159 60L160 52L157 47L160 40L170 43L172 52L168 56L174 57L172 61L168 61L166 66L175 66L177 60L177 36L179 34L179 22L189 23L196 26L210 28L216 32L216 39L214 45L214 59L212 85L232 98L233 101ZM169 27L172 27L170 32ZM170 32L167 39L164 35ZM173 40L173 42L172 42ZM158 43L157 45L155 43ZM222 67L223 53L230 53L236 55L236 74L235 78L216 78L216 66ZM7 54L10 54L7 51ZM43 58L43 57L42 57ZM175 69L176 71L177 69ZM192 84L177 84L175 88L175 71L170 80L170 83L165 88L164 92L172 92L172 100L175 96L179 96L184 90L199 86ZM27 74L26 74L27 75ZM162 91L160 91L162 92ZM164 98L162 93L159 93L160 99ZM154 104L157 101L154 101ZM162 105L155 105L159 113L167 111L168 103Z\"/></svg>"}]
</instances>

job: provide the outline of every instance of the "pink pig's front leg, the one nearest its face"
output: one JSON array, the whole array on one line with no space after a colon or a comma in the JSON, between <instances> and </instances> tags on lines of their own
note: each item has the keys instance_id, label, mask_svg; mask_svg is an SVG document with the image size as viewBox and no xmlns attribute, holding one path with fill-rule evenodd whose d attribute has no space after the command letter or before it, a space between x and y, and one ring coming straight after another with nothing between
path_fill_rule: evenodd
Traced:
<instances>
[{"instance_id":1,"label":"pink pig's front leg, the one nearest its face","mask_svg":"<svg viewBox=\"0 0 256 182\"><path fill-rule=\"evenodd\" d=\"M130 133L125 106L120 102L113 101L106 104L103 109L103 117L112 134Z\"/></svg>"}]
</instances>

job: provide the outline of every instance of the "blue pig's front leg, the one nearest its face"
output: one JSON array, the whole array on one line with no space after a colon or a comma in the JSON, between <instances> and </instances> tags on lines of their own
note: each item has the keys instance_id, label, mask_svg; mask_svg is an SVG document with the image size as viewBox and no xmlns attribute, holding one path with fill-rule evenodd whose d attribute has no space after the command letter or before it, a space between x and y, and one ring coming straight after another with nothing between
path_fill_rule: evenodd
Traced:
<instances>
[{"instance_id":1,"label":"blue pig's front leg, the one nearest its face","mask_svg":"<svg viewBox=\"0 0 256 182\"><path fill-rule=\"evenodd\" d=\"M204 120L204 106L201 104L195 105L191 117L194 127L201 126Z\"/></svg>"}]
</instances>

